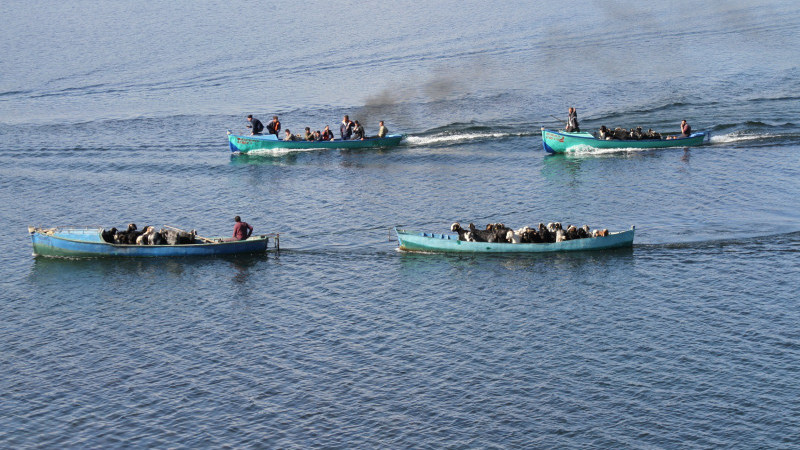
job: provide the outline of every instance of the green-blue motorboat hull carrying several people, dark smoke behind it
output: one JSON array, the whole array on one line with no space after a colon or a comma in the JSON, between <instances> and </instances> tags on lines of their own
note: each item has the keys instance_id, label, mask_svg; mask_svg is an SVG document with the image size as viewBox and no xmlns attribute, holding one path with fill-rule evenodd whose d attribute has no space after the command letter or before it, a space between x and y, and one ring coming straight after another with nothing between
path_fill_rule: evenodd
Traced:
<instances>
[{"instance_id":1,"label":"green-blue motorboat hull carrying several people, dark smoke behind it","mask_svg":"<svg viewBox=\"0 0 800 450\"><path fill-rule=\"evenodd\" d=\"M364 140L353 139L343 141L334 139L332 141L283 141L274 134L263 134L258 136L240 136L228 132L228 144L232 153L246 154L252 151L302 151L316 149L334 148L371 148L371 147L395 147L403 140L402 134L389 134L386 137L367 138Z\"/></svg>"}]
</instances>

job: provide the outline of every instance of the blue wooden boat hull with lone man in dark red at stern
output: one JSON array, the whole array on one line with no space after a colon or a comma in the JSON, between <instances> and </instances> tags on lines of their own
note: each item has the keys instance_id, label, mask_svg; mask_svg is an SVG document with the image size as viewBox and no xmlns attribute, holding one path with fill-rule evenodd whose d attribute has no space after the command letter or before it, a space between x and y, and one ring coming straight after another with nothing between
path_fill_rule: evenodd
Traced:
<instances>
[{"instance_id":1,"label":"blue wooden boat hull with lone man in dark red at stern","mask_svg":"<svg viewBox=\"0 0 800 450\"><path fill-rule=\"evenodd\" d=\"M170 257L236 255L265 252L270 237L274 248L279 247L277 234L250 236L243 241L223 241L222 238L197 238L196 244L181 245L127 245L110 244L102 238L102 228L28 227L34 256L64 258L98 257Z\"/></svg>"}]
</instances>

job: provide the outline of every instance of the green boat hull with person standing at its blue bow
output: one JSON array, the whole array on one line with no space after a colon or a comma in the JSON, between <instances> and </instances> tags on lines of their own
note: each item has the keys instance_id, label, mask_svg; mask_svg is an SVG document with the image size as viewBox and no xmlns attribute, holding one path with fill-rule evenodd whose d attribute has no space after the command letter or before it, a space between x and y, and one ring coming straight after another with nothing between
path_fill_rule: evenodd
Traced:
<instances>
[{"instance_id":1,"label":"green boat hull with person standing at its blue bow","mask_svg":"<svg viewBox=\"0 0 800 450\"><path fill-rule=\"evenodd\" d=\"M694 147L702 145L708 132L700 131L692 133L688 137L675 139L642 139L623 141L619 139L603 140L598 139L592 133L567 133L564 131L554 131L542 128L542 145L547 153L565 153L568 151L580 150L581 148L590 149L646 149L646 148L667 148L667 147Z\"/></svg>"}]
</instances>

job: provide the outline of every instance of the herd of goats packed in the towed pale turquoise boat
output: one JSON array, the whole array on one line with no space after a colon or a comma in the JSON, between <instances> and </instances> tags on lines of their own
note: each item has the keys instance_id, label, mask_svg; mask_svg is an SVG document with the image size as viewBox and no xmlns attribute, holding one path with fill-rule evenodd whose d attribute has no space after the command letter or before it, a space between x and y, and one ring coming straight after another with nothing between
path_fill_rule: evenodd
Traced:
<instances>
[{"instance_id":1,"label":"herd of goats packed in the towed pale turquoise boat","mask_svg":"<svg viewBox=\"0 0 800 450\"><path fill-rule=\"evenodd\" d=\"M456 222L450 226L450 231L458 233L459 241L508 244L541 244L608 236L608 229L592 230L589 225L580 228L567 225L564 229L561 222L550 222L547 225L540 223L536 228L526 226L517 230L508 228L502 223L490 223L483 230L477 229L475 224L471 223L464 229Z\"/></svg>"}]
</instances>

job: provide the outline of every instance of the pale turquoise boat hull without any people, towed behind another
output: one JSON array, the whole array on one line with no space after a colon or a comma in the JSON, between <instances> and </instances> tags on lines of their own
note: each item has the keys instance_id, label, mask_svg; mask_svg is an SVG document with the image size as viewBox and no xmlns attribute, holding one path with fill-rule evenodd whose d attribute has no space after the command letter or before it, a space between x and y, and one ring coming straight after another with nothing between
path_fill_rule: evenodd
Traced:
<instances>
[{"instance_id":1,"label":"pale turquoise boat hull without any people, towed behind another","mask_svg":"<svg viewBox=\"0 0 800 450\"><path fill-rule=\"evenodd\" d=\"M445 253L549 253L579 252L589 250L606 250L630 247L633 245L633 234L636 227L630 230L609 233L608 236L573 239L563 242L541 244L508 244L499 242L459 241L458 235L419 233L395 228L400 250L409 252L445 252Z\"/></svg>"}]
</instances>

